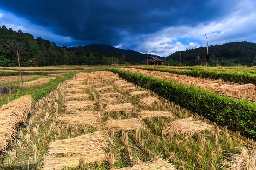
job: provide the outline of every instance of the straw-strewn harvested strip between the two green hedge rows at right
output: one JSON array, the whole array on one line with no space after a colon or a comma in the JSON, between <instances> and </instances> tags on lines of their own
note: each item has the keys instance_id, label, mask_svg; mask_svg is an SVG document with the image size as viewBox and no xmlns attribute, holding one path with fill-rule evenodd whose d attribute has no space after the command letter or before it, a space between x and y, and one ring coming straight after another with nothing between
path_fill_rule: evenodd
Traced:
<instances>
[{"instance_id":1,"label":"straw-strewn harvested strip between the two green hedge rows at right","mask_svg":"<svg viewBox=\"0 0 256 170\"><path fill-rule=\"evenodd\" d=\"M221 95L232 96L236 98L248 99L256 102L256 87L255 85L239 84L233 82L224 82L221 79L212 80L205 78L189 77L186 75L149 71L138 68L118 68L120 70L131 71L134 73L144 74L145 76L155 77L158 79L172 80L177 83L181 83L186 86L194 86L196 88L204 89L209 92L217 92Z\"/></svg>"}]
</instances>

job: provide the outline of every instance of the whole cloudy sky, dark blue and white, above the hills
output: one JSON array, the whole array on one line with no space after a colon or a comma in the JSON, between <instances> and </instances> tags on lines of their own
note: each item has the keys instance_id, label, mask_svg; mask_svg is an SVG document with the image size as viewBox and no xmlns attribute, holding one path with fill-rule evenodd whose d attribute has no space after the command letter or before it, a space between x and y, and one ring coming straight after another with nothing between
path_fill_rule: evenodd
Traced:
<instances>
[{"instance_id":1,"label":"whole cloudy sky, dark blue and white, above the hills","mask_svg":"<svg viewBox=\"0 0 256 170\"><path fill-rule=\"evenodd\" d=\"M1 0L0 26L58 46L107 44L162 57L256 43L256 0Z\"/></svg>"}]
</instances>

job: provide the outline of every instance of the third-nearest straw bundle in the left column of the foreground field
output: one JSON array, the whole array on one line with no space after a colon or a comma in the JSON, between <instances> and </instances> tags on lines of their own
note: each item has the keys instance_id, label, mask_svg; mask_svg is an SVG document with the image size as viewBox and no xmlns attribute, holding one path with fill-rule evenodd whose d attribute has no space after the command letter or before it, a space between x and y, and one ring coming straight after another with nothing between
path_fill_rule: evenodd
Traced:
<instances>
[{"instance_id":1,"label":"third-nearest straw bundle in the left column of the foreground field","mask_svg":"<svg viewBox=\"0 0 256 170\"><path fill-rule=\"evenodd\" d=\"M95 102L94 101L68 101L65 105L66 105L67 111L72 111L75 109L90 110L95 107Z\"/></svg>"}]
</instances>

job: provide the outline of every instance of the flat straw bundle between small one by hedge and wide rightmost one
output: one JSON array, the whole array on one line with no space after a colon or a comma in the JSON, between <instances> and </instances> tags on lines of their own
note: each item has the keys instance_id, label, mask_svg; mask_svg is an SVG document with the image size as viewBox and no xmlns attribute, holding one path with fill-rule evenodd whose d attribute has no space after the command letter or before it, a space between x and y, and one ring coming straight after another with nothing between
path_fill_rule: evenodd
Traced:
<instances>
[{"instance_id":1,"label":"flat straw bundle between small one by hedge and wide rightmost one","mask_svg":"<svg viewBox=\"0 0 256 170\"><path fill-rule=\"evenodd\" d=\"M146 119L146 118L155 118L155 117L171 117L172 113L168 111L141 111L138 113L138 118Z\"/></svg>"}]
</instances>

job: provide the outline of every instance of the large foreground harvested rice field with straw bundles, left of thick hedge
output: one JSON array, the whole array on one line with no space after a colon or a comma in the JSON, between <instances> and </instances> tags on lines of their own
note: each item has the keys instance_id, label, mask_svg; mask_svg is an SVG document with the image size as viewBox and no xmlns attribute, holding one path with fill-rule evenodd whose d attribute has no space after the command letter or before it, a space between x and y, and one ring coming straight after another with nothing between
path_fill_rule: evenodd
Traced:
<instances>
[{"instance_id":1,"label":"large foreground harvested rice field with straw bundles, left of thick hedge","mask_svg":"<svg viewBox=\"0 0 256 170\"><path fill-rule=\"evenodd\" d=\"M256 167L253 140L109 71L78 73L38 101L3 105L0 122L3 169Z\"/></svg>"}]
</instances>

